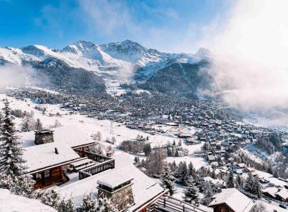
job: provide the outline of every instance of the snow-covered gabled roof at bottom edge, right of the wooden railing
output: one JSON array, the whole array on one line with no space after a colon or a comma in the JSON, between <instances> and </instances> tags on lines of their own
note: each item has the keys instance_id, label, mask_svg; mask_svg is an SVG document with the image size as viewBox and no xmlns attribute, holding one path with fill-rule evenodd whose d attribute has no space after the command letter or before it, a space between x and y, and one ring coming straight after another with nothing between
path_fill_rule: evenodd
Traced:
<instances>
[{"instance_id":1,"label":"snow-covered gabled roof at bottom edge, right of the wooden railing","mask_svg":"<svg viewBox=\"0 0 288 212\"><path fill-rule=\"evenodd\" d=\"M218 204L227 204L235 212L249 212L254 206L252 199L243 195L236 188L223 189L221 193L216 195L216 198L209 206L216 206Z\"/></svg>"}]
</instances>

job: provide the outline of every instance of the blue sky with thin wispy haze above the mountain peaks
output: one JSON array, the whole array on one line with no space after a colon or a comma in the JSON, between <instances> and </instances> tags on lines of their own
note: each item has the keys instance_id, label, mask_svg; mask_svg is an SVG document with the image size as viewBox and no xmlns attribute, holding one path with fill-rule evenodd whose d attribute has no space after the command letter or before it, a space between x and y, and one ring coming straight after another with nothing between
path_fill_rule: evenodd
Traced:
<instances>
[{"instance_id":1,"label":"blue sky with thin wispy haze above the mountain peaks","mask_svg":"<svg viewBox=\"0 0 288 212\"><path fill-rule=\"evenodd\" d=\"M195 52L234 1L0 0L0 46L61 49L77 40L134 40L166 52ZM208 26L208 27L207 27Z\"/></svg>"}]
</instances>

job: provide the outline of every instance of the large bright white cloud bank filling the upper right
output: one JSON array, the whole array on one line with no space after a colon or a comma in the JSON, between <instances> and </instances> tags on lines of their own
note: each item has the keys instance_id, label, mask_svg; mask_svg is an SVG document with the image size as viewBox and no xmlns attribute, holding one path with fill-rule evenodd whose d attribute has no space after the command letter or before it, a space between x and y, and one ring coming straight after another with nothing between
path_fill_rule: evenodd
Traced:
<instances>
[{"instance_id":1,"label":"large bright white cloud bank filling the upper right","mask_svg":"<svg viewBox=\"0 0 288 212\"><path fill-rule=\"evenodd\" d=\"M244 112L288 109L288 1L237 1L211 24L215 91ZM224 24L223 24L224 23Z\"/></svg>"}]
</instances>

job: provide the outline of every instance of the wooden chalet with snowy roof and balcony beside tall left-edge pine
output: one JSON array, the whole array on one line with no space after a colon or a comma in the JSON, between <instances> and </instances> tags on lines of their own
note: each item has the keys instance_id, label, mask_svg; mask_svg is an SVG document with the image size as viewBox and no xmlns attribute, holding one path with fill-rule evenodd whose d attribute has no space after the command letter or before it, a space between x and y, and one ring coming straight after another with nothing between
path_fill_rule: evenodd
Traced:
<instances>
[{"instance_id":1,"label":"wooden chalet with snowy roof and balcony beside tall left-edge pine","mask_svg":"<svg viewBox=\"0 0 288 212\"><path fill-rule=\"evenodd\" d=\"M77 128L35 130L35 135L24 132L21 136L27 172L36 181L35 188L65 183L69 180L65 170L79 172L83 179L114 167L112 158L86 151L95 142Z\"/></svg>"}]
</instances>

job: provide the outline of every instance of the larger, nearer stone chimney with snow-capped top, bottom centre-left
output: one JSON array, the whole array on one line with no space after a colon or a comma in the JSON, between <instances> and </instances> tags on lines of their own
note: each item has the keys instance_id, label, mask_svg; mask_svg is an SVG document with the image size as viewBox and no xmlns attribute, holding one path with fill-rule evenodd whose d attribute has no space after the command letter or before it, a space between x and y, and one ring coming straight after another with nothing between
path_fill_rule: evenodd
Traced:
<instances>
[{"instance_id":1,"label":"larger, nearer stone chimney with snow-capped top, bottom centre-left","mask_svg":"<svg viewBox=\"0 0 288 212\"><path fill-rule=\"evenodd\" d=\"M133 206L134 196L132 191L133 178L123 175L115 174L109 178L99 179L98 198L107 197L118 209L118 211L125 211L128 207Z\"/></svg>"}]
</instances>

